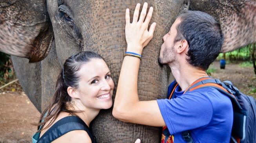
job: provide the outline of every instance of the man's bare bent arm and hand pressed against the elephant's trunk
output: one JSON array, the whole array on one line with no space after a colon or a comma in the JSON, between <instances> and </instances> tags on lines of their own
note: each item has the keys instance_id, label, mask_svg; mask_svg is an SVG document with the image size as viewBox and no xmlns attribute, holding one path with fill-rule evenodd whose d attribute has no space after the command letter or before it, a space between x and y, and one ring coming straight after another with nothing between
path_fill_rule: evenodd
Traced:
<instances>
[{"instance_id":1,"label":"man's bare bent arm and hand pressed against the elephant's trunk","mask_svg":"<svg viewBox=\"0 0 256 143\"><path fill-rule=\"evenodd\" d=\"M143 48L153 38L156 23L153 23L149 30L147 30L153 13L153 7L149 8L147 14L147 3L144 3L138 21L139 10L140 4L137 4L134 10L133 23L130 23L129 9L126 9L125 39L127 41L127 52L142 54ZM113 116L123 122L164 126L165 122L156 100L140 101L138 98L139 66L139 58L132 56L124 57L116 90Z\"/></svg>"}]
</instances>

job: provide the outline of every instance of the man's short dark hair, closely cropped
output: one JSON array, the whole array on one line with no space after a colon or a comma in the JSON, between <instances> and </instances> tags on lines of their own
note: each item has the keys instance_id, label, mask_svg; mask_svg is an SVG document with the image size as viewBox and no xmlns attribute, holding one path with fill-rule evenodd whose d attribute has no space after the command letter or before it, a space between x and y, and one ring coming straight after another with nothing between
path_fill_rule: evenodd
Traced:
<instances>
[{"instance_id":1,"label":"man's short dark hair, closely cropped","mask_svg":"<svg viewBox=\"0 0 256 143\"><path fill-rule=\"evenodd\" d=\"M187 11L180 14L181 23L176 27L176 41L187 40L189 51L187 61L192 66L207 70L218 57L223 43L223 34L212 16L201 11Z\"/></svg>"}]
</instances>

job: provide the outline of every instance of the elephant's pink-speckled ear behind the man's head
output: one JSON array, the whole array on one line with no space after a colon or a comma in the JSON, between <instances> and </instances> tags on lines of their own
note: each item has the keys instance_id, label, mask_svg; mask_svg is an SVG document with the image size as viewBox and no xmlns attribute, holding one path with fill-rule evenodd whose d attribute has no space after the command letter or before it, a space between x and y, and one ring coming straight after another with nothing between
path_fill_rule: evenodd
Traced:
<instances>
[{"instance_id":1,"label":"elephant's pink-speckled ear behind the man's head","mask_svg":"<svg viewBox=\"0 0 256 143\"><path fill-rule=\"evenodd\" d=\"M211 14L220 22L222 52L256 42L256 0L191 0L189 9Z\"/></svg>"}]
</instances>

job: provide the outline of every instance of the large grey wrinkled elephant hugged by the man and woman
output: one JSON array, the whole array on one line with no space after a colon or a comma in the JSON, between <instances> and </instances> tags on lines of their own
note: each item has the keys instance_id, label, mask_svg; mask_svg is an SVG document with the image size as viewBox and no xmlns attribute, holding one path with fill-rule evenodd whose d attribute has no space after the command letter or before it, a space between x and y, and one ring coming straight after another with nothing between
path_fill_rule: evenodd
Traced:
<instances>
[{"instance_id":1,"label":"large grey wrinkled elephant hugged by the man and woman","mask_svg":"<svg viewBox=\"0 0 256 143\"><path fill-rule=\"evenodd\" d=\"M12 55L16 75L38 111L54 94L54 85L69 56L83 50L102 55L115 85L122 65L125 9L131 16L141 0L1 0L0 51ZM171 71L157 61L162 36L176 16L190 10L216 18L224 34L222 52L256 42L256 0L148 0L154 7L154 38L143 50L138 76L140 100L165 98ZM114 91L115 94L115 91ZM113 96L114 98L114 96ZM92 123L99 143L160 142L159 127L124 123L102 110ZM142 119L143 120L143 119Z\"/></svg>"}]
</instances>

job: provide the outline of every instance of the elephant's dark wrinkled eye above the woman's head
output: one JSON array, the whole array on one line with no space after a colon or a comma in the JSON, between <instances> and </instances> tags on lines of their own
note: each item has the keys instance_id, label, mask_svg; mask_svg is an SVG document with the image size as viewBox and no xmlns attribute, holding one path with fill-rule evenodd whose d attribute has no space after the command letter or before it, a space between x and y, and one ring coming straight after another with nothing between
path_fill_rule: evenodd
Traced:
<instances>
[{"instance_id":1,"label":"elephant's dark wrinkled eye above the woman's head","mask_svg":"<svg viewBox=\"0 0 256 143\"><path fill-rule=\"evenodd\" d=\"M62 4L62 5L59 6L59 11L60 11L60 16L64 18L66 23L70 27L73 27L73 25L75 23L73 21L73 16L71 15L71 12L70 12L69 8L66 5Z\"/></svg>"}]
</instances>

